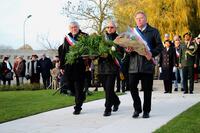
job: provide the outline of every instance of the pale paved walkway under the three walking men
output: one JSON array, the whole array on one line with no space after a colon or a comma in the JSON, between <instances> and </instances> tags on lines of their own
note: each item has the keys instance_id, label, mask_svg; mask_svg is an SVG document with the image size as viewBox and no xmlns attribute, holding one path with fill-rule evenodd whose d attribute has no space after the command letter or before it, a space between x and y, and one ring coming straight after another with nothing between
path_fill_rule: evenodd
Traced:
<instances>
[{"instance_id":1,"label":"pale paved walkway under the three walking men","mask_svg":"<svg viewBox=\"0 0 200 133\"><path fill-rule=\"evenodd\" d=\"M149 119L132 118L132 98L127 93L120 96L119 111L110 117L103 117L102 99L85 103L78 116L72 115L73 107L53 110L0 124L0 133L150 133L199 102L199 85L195 84L194 94L164 94L162 82L155 81Z\"/></svg>"}]
</instances>

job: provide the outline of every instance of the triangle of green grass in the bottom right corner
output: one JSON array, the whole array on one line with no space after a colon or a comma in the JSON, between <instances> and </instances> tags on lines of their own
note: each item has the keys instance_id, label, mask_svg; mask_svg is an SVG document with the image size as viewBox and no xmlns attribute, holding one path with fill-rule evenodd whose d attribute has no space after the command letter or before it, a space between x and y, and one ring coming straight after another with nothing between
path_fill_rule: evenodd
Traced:
<instances>
[{"instance_id":1,"label":"triangle of green grass in the bottom right corner","mask_svg":"<svg viewBox=\"0 0 200 133\"><path fill-rule=\"evenodd\" d=\"M200 103L181 113L154 133L200 133Z\"/></svg>"}]
</instances>

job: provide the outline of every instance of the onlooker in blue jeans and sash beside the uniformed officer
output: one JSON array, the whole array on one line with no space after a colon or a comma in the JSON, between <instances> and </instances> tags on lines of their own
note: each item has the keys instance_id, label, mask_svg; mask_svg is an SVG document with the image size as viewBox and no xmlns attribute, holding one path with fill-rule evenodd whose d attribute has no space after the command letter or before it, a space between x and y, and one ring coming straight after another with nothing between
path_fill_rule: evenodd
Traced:
<instances>
[{"instance_id":1,"label":"onlooker in blue jeans and sash beside the uniformed officer","mask_svg":"<svg viewBox=\"0 0 200 133\"><path fill-rule=\"evenodd\" d=\"M180 49L181 49L181 40L180 37L178 35L174 36L174 47L175 47L175 56L176 56L176 62L177 62L177 69L175 69L175 77L176 79L174 80L174 91L178 91L178 83L180 82L180 87L181 87L181 91L183 90L183 71L182 68L179 67L179 57L180 57Z\"/></svg>"}]
</instances>

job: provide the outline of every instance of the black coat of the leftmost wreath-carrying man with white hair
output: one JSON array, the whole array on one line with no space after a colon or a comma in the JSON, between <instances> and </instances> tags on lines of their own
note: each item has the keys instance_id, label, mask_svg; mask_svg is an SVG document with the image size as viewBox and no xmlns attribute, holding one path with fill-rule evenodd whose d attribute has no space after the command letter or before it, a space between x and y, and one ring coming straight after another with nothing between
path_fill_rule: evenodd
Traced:
<instances>
[{"instance_id":1,"label":"black coat of the leftmost wreath-carrying man with white hair","mask_svg":"<svg viewBox=\"0 0 200 133\"><path fill-rule=\"evenodd\" d=\"M87 36L88 34L79 30L78 34L74 37L72 36L72 33L69 33L68 35L75 41L78 41L80 36ZM66 78L73 80L79 80L80 78L82 79L85 76L85 64L81 57L78 58L77 61L73 64L65 64L67 61L65 56L69 52L69 47L71 47L70 44L67 42L66 38L64 38L64 43L58 48L60 67L61 69L65 70L64 74Z\"/></svg>"}]
</instances>

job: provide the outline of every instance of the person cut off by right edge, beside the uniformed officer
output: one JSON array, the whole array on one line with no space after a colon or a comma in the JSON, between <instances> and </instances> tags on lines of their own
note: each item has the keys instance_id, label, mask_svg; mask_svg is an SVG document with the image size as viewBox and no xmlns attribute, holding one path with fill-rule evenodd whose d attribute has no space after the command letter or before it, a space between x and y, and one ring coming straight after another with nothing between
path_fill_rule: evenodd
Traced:
<instances>
[{"instance_id":1,"label":"person cut off by right edge, beside the uniformed officer","mask_svg":"<svg viewBox=\"0 0 200 133\"><path fill-rule=\"evenodd\" d=\"M198 83L198 68L199 68L199 60L200 60L200 34L195 38L195 43L197 44L197 58L198 58L198 64L197 67L194 68L194 82Z\"/></svg>"}]
</instances>

